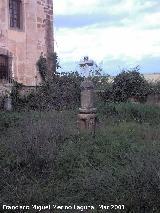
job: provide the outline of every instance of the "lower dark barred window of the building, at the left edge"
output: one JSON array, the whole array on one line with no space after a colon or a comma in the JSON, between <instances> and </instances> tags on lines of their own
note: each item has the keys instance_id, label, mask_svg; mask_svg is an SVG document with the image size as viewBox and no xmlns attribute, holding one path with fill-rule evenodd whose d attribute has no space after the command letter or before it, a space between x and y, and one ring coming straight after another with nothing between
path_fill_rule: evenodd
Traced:
<instances>
[{"instance_id":1,"label":"lower dark barred window of the building, at the left edge","mask_svg":"<svg viewBox=\"0 0 160 213\"><path fill-rule=\"evenodd\" d=\"M9 80L8 57L0 55L0 80Z\"/></svg>"}]
</instances>

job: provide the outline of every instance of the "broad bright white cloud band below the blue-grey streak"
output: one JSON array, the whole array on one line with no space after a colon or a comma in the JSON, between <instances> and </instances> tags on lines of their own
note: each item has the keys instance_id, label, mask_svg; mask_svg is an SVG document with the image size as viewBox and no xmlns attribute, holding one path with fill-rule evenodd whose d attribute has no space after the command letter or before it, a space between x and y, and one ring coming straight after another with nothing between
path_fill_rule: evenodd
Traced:
<instances>
[{"instance_id":1,"label":"broad bright white cloud band below the blue-grey streak","mask_svg":"<svg viewBox=\"0 0 160 213\"><path fill-rule=\"evenodd\" d=\"M106 57L141 60L160 55L159 30L135 30L134 27L59 29L56 33L58 52L65 60L89 55L96 60Z\"/></svg>"}]
</instances>

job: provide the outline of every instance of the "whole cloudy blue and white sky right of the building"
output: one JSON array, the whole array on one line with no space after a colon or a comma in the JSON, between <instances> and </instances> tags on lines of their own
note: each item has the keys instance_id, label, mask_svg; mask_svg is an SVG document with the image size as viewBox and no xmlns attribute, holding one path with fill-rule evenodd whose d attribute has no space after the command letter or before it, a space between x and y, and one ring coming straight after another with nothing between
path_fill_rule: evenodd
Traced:
<instances>
[{"instance_id":1,"label":"whole cloudy blue and white sky right of the building","mask_svg":"<svg viewBox=\"0 0 160 213\"><path fill-rule=\"evenodd\" d=\"M140 66L160 73L160 0L54 0L54 42L62 71L88 56L112 76Z\"/></svg>"}]
</instances>

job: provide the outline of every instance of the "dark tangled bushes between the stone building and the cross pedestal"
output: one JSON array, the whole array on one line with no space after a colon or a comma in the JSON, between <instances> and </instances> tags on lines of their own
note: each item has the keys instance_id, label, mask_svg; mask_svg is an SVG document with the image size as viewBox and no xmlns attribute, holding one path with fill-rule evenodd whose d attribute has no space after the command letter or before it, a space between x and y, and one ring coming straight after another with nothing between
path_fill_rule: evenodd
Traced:
<instances>
[{"instance_id":1,"label":"dark tangled bushes between the stone building and the cross pedestal","mask_svg":"<svg viewBox=\"0 0 160 213\"><path fill-rule=\"evenodd\" d=\"M19 95L19 85L12 91L15 110L62 110L73 109L80 105L80 84L82 77L78 73L53 75L44 81L29 95Z\"/></svg>"}]
</instances>

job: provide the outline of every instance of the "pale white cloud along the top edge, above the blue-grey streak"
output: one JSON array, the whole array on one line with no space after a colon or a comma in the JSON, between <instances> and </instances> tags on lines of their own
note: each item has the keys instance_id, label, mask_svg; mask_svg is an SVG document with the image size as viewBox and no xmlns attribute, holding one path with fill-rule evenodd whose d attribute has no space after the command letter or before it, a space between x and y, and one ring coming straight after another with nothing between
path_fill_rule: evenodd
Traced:
<instances>
[{"instance_id":1,"label":"pale white cloud along the top edge, above the blue-grey streak","mask_svg":"<svg viewBox=\"0 0 160 213\"><path fill-rule=\"evenodd\" d=\"M160 4L150 0L54 0L57 15L136 13Z\"/></svg>"}]
</instances>

